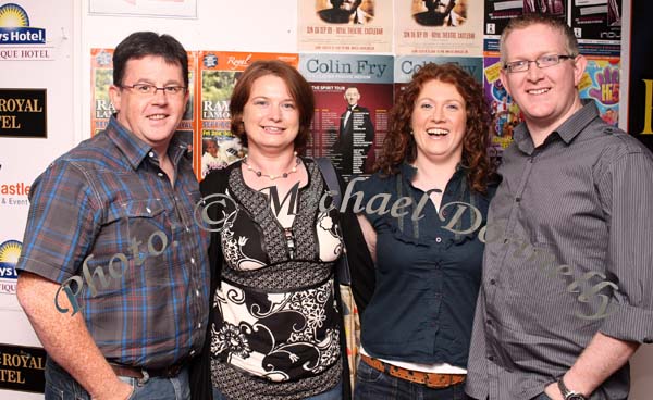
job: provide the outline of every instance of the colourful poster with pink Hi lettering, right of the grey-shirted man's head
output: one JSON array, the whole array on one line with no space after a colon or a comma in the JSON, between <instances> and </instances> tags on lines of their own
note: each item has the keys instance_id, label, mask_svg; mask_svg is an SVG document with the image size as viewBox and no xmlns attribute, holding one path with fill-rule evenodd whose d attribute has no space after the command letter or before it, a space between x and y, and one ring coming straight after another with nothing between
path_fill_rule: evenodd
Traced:
<instances>
[{"instance_id":1,"label":"colourful poster with pink Hi lettering, right of the grey-shirted man's head","mask_svg":"<svg viewBox=\"0 0 653 400\"><path fill-rule=\"evenodd\" d=\"M581 99L593 99L599 114L606 123L619 123L619 71L618 58L589 58L586 72L578 85Z\"/></svg>"}]
</instances>

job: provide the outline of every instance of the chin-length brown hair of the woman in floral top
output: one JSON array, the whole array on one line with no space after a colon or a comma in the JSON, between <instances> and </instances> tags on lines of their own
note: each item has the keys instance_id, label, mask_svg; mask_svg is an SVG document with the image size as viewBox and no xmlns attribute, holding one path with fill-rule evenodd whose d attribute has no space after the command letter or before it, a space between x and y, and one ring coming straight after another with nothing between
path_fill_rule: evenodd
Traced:
<instances>
[{"instance_id":1,"label":"chin-length brown hair of the woman in floral top","mask_svg":"<svg viewBox=\"0 0 653 400\"><path fill-rule=\"evenodd\" d=\"M312 88L304 76L283 61L255 61L241 75L229 104L232 134L241 139L243 146L247 146L247 133L243 125L243 110L247 100L249 100L254 82L267 75L280 77L288 87L288 92L295 101L297 112L299 113L299 133L294 143L295 150L300 153L306 148L306 143L308 143L308 139L310 138L310 123L312 122L316 109L316 100Z\"/></svg>"}]
</instances>

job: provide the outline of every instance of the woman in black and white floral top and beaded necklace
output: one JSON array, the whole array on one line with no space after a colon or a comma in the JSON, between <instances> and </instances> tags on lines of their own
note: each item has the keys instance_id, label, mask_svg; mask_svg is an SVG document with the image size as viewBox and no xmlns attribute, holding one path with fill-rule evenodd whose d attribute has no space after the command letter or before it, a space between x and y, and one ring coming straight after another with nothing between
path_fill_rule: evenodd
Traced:
<instances>
[{"instance_id":1,"label":"woman in black and white floral top and beaded necklace","mask_svg":"<svg viewBox=\"0 0 653 400\"><path fill-rule=\"evenodd\" d=\"M252 63L230 105L248 157L201 183L206 220L219 222L206 346L214 399L348 397L334 266L341 218L355 217L320 208L323 196L331 203L326 184L317 163L297 155L313 103L292 66Z\"/></svg>"}]
</instances>

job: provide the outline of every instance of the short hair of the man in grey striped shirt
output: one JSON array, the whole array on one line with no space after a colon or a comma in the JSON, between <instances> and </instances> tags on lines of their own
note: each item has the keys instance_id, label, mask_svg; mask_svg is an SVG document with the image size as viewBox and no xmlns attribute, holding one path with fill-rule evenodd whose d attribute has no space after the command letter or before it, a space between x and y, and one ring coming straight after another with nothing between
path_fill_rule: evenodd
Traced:
<instances>
[{"instance_id":1,"label":"short hair of the man in grey striped shirt","mask_svg":"<svg viewBox=\"0 0 653 400\"><path fill-rule=\"evenodd\" d=\"M507 61L506 40L508 39L508 36L512 35L514 30L523 29L532 25L544 25L553 30L559 32L565 38L567 47L565 50L567 50L568 55L576 57L579 54L578 39L576 39L574 30L565 21L549 14L529 13L512 18L508 21L508 25L503 29L501 39L498 40L502 66L505 66Z\"/></svg>"}]
</instances>

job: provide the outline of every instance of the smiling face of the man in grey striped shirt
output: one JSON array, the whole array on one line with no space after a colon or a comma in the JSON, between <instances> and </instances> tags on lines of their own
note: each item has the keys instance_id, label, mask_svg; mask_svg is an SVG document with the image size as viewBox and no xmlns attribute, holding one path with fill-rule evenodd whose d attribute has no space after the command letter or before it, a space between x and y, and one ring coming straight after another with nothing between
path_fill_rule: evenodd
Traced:
<instances>
[{"instance_id":1,"label":"smiling face of the man in grey striped shirt","mask_svg":"<svg viewBox=\"0 0 653 400\"><path fill-rule=\"evenodd\" d=\"M563 34L542 24L515 29L506 38L504 49L506 62L569 55ZM531 63L525 72L501 71L501 80L519 105L531 132L550 133L582 107L577 86L586 64L586 59L579 55L545 68Z\"/></svg>"}]
</instances>

